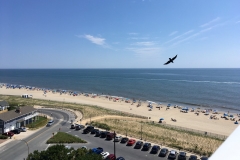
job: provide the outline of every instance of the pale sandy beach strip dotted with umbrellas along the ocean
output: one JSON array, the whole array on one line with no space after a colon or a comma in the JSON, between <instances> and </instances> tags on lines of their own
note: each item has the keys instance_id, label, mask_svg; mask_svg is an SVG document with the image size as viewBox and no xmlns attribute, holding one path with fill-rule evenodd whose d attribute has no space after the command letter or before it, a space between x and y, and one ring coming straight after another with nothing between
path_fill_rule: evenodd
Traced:
<instances>
[{"instance_id":1,"label":"pale sandy beach strip dotted with umbrellas along the ocean","mask_svg":"<svg viewBox=\"0 0 240 160\"><path fill-rule=\"evenodd\" d=\"M44 95L43 91L37 90L27 90L27 89L6 89L5 87L0 88L0 94L2 95L17 95L21 96L22 94L32 95L34 99L44 99L44 100L54 100L60 102L75 102L80 104L96 105L104 108L115 109L123 112L134 113L137 115L151 117L152 121L159 121L160 118L164 118L164 121L167 124L172 124L176 126L191 128L195 130L201 130L204 132L211 132L220 135L229 136L233 130L238 126L234 124L232 120L225 120L221 118L223 112L216 115L217 119L210 119L210 116L213 115L204 115L204 113L195 114L195 112L183 113L180 112L181 109L174 108L173 106L170 109L166 110L167 106L162 105L162 108L156 108L156 104L153 104L152 111L149 111L147 107L147 102L142 102L140 107L137 107L137 103L126 103L124 101L113 101L108 98L96 96L92 98L91 96L86 97L84 95L72 96L69 94L52 93L48 92ZM198 109L201 111L201 109ZM230 113L231 114L231 113ZM234 116L237 117L236 114ZM171 118L176 119L177 122L173 122Z\"/></svg>"}]
</instances>

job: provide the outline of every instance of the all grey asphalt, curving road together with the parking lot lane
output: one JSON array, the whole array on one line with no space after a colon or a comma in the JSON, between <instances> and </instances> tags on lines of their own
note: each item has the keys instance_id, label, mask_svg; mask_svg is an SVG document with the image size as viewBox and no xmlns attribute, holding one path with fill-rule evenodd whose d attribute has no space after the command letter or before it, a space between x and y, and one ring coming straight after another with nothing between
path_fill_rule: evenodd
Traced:
<instances>
[{"instance_id":1,"label":"all grey asphalt, curving road together with the parking lot lane","mask_svg":"<svg viewBox=\"0 0 240 160\"><path fill-rule=\"evenodd\" d=\"M70 113L59 110L42 110L43 113L54 117L55 123L50 127L44 127L40 131L34 133L33 135L25 138L29 145L29 153L34 150L43 151L46 150L51 145L46 144L46 141L52 136L53 132L57 132L61 128L62 132L66 132L77 136L88 143L85 144L66 144L72 146L75 149L87 146L88 148L102 147L105 152L114 153L114 143L113 141L107 141L105 139L94 137L91 134L82 134L82 130L76 131L70 129L70 121L73 116ZM116 155L117 157L122 156L126 160L166 160L167 157L158 157L158 154L150 154L149 151L141 151L139 149L134 149L134 146L126 146L126 144L115 143L116 144ZM28 155L28 147L23 141L12 141L0 150L1 160L22 160Z\"/></svg>"}]
</instances>

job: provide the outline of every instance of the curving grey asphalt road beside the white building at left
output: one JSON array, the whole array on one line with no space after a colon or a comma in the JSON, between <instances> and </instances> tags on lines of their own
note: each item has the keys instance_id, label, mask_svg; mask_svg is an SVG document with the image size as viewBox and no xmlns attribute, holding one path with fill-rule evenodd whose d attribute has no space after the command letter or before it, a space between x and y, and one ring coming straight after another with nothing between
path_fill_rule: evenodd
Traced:
<instances>
[{"instance_id":1,"label":"curving grey asphalt road beside the white building at left","mask_svg":"<svg viewBox=\"0 0 240 160\"><path fill-rule=\"evenodd\" d=\"M48 147L46 141L52 136L53 132L57 132L59 128L70 123L70 113L64 111L51 111L42 110L43 113L50 115L51 113L54 119L54 125L51 127L44 127L31 136L23 139L28 143L29 153L34 150L43 151ZM5 146L1 147L0 159L1 160L22 160L28 155L28 147L24 141L16 140L12 141Z\"/></svg>"}]
</instances>

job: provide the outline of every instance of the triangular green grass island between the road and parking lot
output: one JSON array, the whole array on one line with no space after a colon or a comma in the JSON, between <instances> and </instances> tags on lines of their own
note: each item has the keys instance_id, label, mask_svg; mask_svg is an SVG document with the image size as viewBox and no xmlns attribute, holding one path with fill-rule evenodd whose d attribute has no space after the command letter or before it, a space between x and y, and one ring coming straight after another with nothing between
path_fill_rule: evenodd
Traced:
<instances>
[{"instance_id":1,"label":"triangular green grass island between the road and parking lot","mask_svg":"<svg viewBox=\"0 0 240 160\"><path fill-rule=\"evenodd\" d=\"M56 135L54 135L47 141L47 144L50 143L87 143L87 142L73 135L64 132L58 132Z\"/></svg>"}]
</instances>

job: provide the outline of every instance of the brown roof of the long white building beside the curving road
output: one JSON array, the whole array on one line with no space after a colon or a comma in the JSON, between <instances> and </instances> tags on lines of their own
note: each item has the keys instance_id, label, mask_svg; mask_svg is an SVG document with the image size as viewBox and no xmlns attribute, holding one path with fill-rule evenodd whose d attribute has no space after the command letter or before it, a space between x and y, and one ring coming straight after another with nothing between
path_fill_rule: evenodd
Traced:
<instances>
[{"instance_id":1,"label":"brown roof of the long white building beside the curving road","mask_svg":"<svg viewBox=\"0 0 240 160\"><path fill-rule=\"evenodd\" d=\"M28 114L32 111L36 111L37 109L33 108L32 106L24 106L20 108L21 113L16 112L16 110L11 110L8 112L4 112L0 114L0 119L3 121L9 121L11 119L17 118L19 116Z\"/></svg>"}]
</instances>

